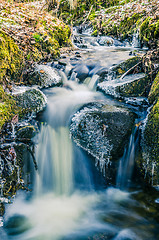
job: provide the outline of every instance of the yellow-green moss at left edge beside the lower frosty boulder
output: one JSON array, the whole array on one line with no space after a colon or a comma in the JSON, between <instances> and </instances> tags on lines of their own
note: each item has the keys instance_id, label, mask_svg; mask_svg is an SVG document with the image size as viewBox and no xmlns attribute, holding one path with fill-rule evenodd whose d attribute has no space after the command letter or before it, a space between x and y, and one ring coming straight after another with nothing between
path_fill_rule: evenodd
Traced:
<instances>
[{"instance_id":1,"label":"yellow-green moss at left edge beside the lower frosty boulder","mask_svg":"<svg viewBox=\"0 0 159 240\"><path fill-rule=\"evenodd\" d=\"M20 108L17 107L15 100L9 94L5 93L0 87L0 129L3 124L18 114Z\"/></svg>"}]
</instances>

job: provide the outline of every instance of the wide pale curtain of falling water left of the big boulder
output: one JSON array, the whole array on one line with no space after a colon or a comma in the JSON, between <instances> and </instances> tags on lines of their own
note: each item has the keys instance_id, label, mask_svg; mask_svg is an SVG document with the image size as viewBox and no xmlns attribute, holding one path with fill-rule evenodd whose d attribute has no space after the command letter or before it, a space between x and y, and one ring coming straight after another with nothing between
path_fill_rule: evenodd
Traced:
<instances>
[{"instance_id":1,"label":"wide pale curtain of falling water left of the big boulder","mask_svg":"<svg viewBox=\"0 0 159 240\"><path fill-rule=\"evenodd\" d=\"M55 130L49 125L42 126L39 139L36 149L39 167L36 194L51 191L57 195L69 195L73 190L73 159L68 128Z\"/></svg>"}]
</instances>

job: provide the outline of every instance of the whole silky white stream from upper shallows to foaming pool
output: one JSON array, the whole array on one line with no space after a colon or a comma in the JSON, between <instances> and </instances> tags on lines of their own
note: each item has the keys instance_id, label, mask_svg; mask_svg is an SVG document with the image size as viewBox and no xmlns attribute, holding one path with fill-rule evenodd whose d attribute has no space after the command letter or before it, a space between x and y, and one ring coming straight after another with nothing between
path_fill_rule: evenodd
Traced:
<instances>
[{"instance_id":1,"label":"whole silky white stream from upper shallows to foaming pool","mask_svg":"<svg viewBox=\"0 0 159 240\"><path fill-rule=\"evenodd\" d=\"M19 191L13 204L7 205L4 227L0 228L3 240L159 239L156 191L143 189L137 181L127 185L138 144L136 129L119 161L116 185L112 186L95 167L94 158L70 137L71 118L84 104L124 106L94 90L95 75L99 66L109 69L130 58L132 51L131 46L117 43L99 45L89 35L80 38L87 48L77 49L74 57L64 61L73 66L90 64L96 69L83 83L60 70L64 86L43 90L48 104L38 119L40 132L35 137L38 171L30 163L33 191Z\"/></svg>"}]
</instances>

